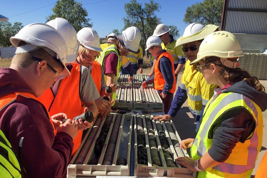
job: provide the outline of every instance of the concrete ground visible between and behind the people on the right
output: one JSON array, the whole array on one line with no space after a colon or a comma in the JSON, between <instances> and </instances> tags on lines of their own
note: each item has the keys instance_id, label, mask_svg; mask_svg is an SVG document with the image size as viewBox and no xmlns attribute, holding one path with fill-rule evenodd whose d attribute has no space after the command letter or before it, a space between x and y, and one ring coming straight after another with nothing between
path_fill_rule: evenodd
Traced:
<instances>
[{"instance_id":1,"label":"concrete ground visible between and behind the people on the right","mask_svg":"<svg viewBox=\"0 0 267 178\"><path fill-rule=\"evenodd\" d=\"M178 75L176 89L181 82L182 74ZM260 80L260 83L267 90L267 80ZM189 109L187 101L183 104L181 109L178 111L175 118L173 118L173 123L181 139L194 138L195 137L195 119L193 119ZM267 111L263 112L263 127L267 127ZM256 161L256 166L252 172L251 178L254 178L255 173L259 167L260 161L263 155L266 152L267 148L267 129L263 129L263 142L258 159ZM187 149L187 152L190 154L190 149Z\"/></svg>"}]
</instances>

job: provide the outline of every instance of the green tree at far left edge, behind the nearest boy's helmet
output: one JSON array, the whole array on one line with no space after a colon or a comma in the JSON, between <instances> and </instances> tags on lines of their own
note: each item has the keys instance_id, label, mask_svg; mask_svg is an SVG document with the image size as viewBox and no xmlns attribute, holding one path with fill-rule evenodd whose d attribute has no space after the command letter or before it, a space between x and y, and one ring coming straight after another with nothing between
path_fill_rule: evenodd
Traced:
<instances>
[{"instance_id":1,"label":"green tree at far left edge, behind the nearest boy's helmet","mask_svg":"<svg viewBox=\"0 0 267 178\"><path fill-rule=\"evenodd\" d=\"M23 28L22 23L15 22L12 25L10 22L0 22L0 47L11 46L9 39L17 34Z\"/></svg>"}]
</instances>

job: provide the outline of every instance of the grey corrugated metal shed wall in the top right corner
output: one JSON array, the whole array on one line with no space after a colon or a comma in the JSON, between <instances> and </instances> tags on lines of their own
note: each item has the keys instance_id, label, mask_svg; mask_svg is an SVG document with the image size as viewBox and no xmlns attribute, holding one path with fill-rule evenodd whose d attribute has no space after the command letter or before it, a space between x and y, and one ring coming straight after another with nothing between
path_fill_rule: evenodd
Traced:
<instances>
[{"instance_id":1,"label":"grey corrugated metal shed wall in the top right corner","mask_svg":"<svg viewBox=\"0 0 267 178\"><path fill-rule=\"evenodd\" d=\"M223 30L267 35L266 0L226 0Z\"/></svg>"}]
</instances>

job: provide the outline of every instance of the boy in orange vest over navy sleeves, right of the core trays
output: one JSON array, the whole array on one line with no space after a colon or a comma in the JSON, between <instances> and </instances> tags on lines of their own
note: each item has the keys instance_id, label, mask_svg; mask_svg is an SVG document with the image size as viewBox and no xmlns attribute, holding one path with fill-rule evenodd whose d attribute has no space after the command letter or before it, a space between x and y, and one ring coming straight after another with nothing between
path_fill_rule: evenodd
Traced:
<instances>
[{"instance_id":1,"label":"boy in orange vest over navy sleeves, right of the core trays","mask_svg":"<svg viewBox=\"0 0 267 178\"><path fill-rule=\"evenodd\" d=\"M147 39L147 48L151 54L157 57L155 62L155 74L142 83L144 88L154 83L154 87L160 94L164 104L164 112L168 112L171 106L173 93L175 92L175 74L172 55L163 50L160 37L151 36Z\"/></svg>"}]
</instances>

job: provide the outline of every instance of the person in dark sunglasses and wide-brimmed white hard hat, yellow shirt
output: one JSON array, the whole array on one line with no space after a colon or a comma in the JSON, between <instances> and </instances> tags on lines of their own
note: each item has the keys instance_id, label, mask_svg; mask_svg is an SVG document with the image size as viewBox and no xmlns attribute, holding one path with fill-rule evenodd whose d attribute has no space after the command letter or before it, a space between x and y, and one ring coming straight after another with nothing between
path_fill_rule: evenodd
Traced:
<instances>
[{"instance_id":1,"label":"person in dark sunglasses and wide-brimmed white hard hat, yellow shirt","mask_svg":"<svg viewBox=\"0 0 267 178\"><path fill-rule=\"evenodd\" d=\"M199 121L201 120L202 111L206 106L208 100L212 97L213 89L216 85L209 85L203 78L203 75L195 70L195 65L190 66L190 62L197 59L199 45L202 40L210 33L218 29L215 25L202 25L193 23L186 27L184 34L176 41L176 47L182 45L182 50L185 52L188 59L185 64L185 70L181 79L181 83L171 103L171 108L167 115L156 116L155 119L160 121L168 121L175 117L186 99L188 107L196 119L196 132L199 128Z\"/></svg>"}]
</instances>

